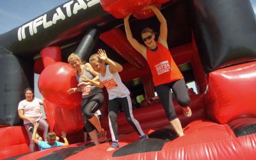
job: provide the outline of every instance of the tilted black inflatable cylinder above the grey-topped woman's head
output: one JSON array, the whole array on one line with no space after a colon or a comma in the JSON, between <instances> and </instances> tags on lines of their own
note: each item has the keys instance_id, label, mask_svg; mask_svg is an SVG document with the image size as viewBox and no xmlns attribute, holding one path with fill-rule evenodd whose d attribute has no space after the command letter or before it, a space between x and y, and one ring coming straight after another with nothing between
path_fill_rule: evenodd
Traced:
<instances>
[{"instance_id":1,"label":"tilted black inflatable cylinder above the grey-topped woman's head","mask_svg":"<svg viewBox=\"0 0 256 160\"><path fill-rule=\"evenodd\" d=\"M95 45L98 42L100 37L100 31L96 28L90 28L82 41L80 42L79 46L76 49L76 54L82 59L87 60L90 58L92 54L92 50L94 49Z\"/></svg>"}]
</instances>

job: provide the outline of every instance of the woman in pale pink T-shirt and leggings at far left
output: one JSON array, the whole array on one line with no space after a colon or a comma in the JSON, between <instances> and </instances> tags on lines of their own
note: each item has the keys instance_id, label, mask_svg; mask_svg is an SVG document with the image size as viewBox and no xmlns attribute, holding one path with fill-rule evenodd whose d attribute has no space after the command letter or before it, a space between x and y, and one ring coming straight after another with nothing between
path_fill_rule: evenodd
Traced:
<instances>
[{"instance_id":1,"label":"woman in pale pink T-shirt and leggings at far left","mask_svg":"<svg viewBox=\"0 0 256 160\"><path fill-rule=\"evenodd\" d=\"M30 139L29 149L30 152L34 152L36 150L35 143L32 141L32 133L30 132L30 128L34 126L35 122L39 123L39 129L44 132L44 140L47 139L47 134L49 132L49 124L43 118L40 105L43 104L44 100L40 100L38 98L34 98L34 91L32 88L26 88L24 90L24 94L26 99L20 101L18 105L18 114L19 117L24 120L24 126L26 128L26 132ZM39 138L39 136L37 137Z\"/></svg>"}]
</instances>

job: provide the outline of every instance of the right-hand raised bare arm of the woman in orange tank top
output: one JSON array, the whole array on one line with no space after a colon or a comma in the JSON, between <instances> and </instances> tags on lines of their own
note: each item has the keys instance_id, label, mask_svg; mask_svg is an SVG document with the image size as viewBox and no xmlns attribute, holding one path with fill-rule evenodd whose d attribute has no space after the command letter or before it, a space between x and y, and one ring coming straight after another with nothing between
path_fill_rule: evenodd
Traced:
<instances>
[{"instance_id":1,"label":"right-hand raised bare arm of the woman in orange tank top","mask_svg":"<svg viewBox=\"0 0 256 160\"><path fill-rule=\"evenodd\" d=\"M156 14L156 17L158 18L160 22L160 34L158 37L158 42L164 45L168 49L167 45L167 23L166 19L164 18L163 14L158 10L158 8L154 5L147 6L148 8L151 8L152 11Z\"/></svg>"}]
</instances>

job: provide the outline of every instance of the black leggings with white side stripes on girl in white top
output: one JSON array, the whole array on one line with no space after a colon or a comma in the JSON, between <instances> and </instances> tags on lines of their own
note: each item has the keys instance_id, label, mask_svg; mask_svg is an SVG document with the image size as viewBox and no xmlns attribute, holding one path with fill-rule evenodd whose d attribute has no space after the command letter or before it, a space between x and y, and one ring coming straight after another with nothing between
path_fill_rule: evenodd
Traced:
<instances>
[{"instance_id":1,"label":"black leggings with white side stripes on girl in white top","mask_svg":"<svg viewBox=\"0 0 256 160\"><path fill-rule=\"evenodd\" d=\"M144 132L142 131L139 122L134 118L132 114L132 101L130 96L123 98L114 98L108 102L108 122L109 129L112 137L112 141L118 140L118 127L117 127L117 113L121 106L124 110L124 114L127 122L134 128L134 130L140 135L143 136Z\"/></svg>"}]
</instances>

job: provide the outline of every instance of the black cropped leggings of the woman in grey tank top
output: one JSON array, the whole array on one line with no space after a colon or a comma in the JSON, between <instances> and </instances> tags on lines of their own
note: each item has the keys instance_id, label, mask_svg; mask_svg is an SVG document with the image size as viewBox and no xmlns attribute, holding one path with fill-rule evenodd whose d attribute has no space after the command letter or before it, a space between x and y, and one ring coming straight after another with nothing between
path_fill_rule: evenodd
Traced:
<instances>
[{"instance_id":1,"label":"black cropped leggings of the woman in grey tank top","mask_svg":"<svg viewBox=\"0 0 256 160\"><path fill-rule=\"evenodd\" d=\"M83 98L82 100L82 116L84 120L84 125L88 133L92 132L95 127L92 125L88 119L91 119L94 116L94 113L100 109L104 102L104 94L100 92L94 96L88 98Z\"/></svg>"}]
</instances>

